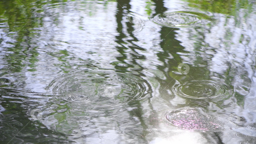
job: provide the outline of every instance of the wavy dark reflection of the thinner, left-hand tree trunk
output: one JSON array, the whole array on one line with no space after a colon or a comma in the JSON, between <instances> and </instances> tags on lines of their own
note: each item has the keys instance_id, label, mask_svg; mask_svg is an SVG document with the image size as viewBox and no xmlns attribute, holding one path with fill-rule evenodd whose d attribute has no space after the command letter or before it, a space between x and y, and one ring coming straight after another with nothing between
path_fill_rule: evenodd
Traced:
<instances>
[{"instance_id":1,"label":"wavy dark reflection of the thinner, left-hand tree trunk","mask_svg":"<svg viewBox=\"0 0 256 144\"><path fill-rule=\"evenodd\" d=\"M124 39L127 38L127 37L133 38L131 40L127 40L132 45L134 45L132 41L137 41L137 38L132 33L132 31L133 31L132 24L130 24L129 22L126 22L127 32L128 32L128 34L130 34L130 36L126 35L125 33L122 32L122 30L124 28L123 23L122 23L123 17L125 16L124 14L126 12L130 12L130 9L131 9L130 0L117 0L117 3L118 3L118 5L117 5L117 9L118 10L117 10L117 13L116 13L116 22L117 22L117 31L119 32L119 35L116 36L115 42L118 43L119 45L121 45L121 46L117 46L117 51L121 54L121 56L120 57L116 57L116 59L121 61L121 62L123 62L123 63L126 63L128 65L128 67L129 67L130 64L127 63L126 60L131 61L135 65L135 67L136 67L136 66L140 65L139 63L136 62L137 57L135 57L135 58L132 57L131 59L127 59L127 57L128 57L127 55L128 54L125 52L126 46L124 45L124 43L126 43ZM120 5L120 4L122 4L122 5ZM136 47L128 46L128 49L131 49L132 51L137 53L134 50L134 49L136 49ZM141 57L141 56L139 56L139 57ZM144 56L144 57L141 57L139 59L140 60L144 60L144 59L146 59L146 57ZM123 68L125 70L127 70L126 67L123 67ZM118 71L118 69L116 69L116 70ZM143 74L141 72L139 72L139 73ZM147 81L145 81L145 82L147 83L148 86L150 86ZM137 117L139 119L140 125L138 125L137 127L141 127L142 129L140 129L141 130L141 134L139 134L137 136L140 137L140 139L142 141L144 141L143 143L145 143L146 142L146 137L145 136L146 136L146 133L148 133L147 132L148 125L147 125L147 123L145 122L145 120L143 119L143 116L142 116L143 106L137 100L134 101L134 102L136 102L136 109L134 109L132 111L128 111L128 112L130 113L130 115L135 116L135 117ZM130 107L133 106L132 103L131 104L128 103L127 105L129 105ZM127 129L127 130L129 130L129 129Z\"/></svg>"}]
</instances>

